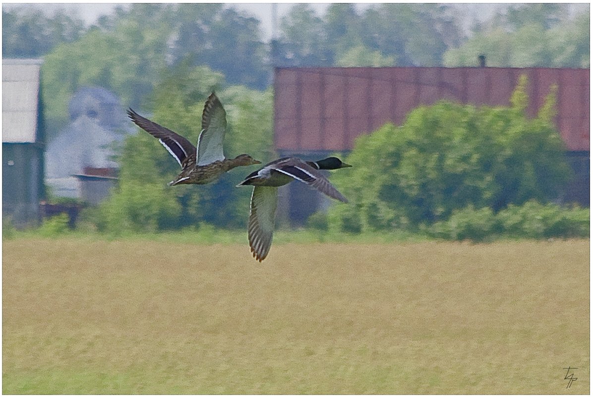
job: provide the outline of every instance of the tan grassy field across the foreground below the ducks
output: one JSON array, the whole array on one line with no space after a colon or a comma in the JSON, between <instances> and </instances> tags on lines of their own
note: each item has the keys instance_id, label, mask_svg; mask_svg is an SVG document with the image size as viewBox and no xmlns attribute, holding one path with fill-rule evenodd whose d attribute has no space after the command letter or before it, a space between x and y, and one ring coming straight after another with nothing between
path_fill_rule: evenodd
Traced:
<instances>
[{"instance_id":1,"label":"tan grassy field across the foreground below the ducks","mask_svg":"<svg viewBox=\"0 0 593 397\"><path fill-rule=\"evenodd\" d=\"M4 393L590 391L589 240L2 253Z\"/></svg>"}]
</instances>

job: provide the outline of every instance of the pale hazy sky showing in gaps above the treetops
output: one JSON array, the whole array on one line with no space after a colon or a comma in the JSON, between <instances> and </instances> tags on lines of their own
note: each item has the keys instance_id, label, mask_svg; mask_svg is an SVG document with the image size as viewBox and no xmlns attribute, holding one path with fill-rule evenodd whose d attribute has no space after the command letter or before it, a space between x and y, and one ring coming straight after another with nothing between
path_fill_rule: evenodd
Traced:
<instances>
[{"instance_id":1,"label":"pale hazy sky showing in gaps above the treetops","mask_svg":"<svg viewBox=\"0 0 593 397\"><path fill-rule=\"evenodd\" d=\"M126 7L125 3L120 3ZM262 21L262 29L264 39L269 40L272 36L272 4L271 3L225 3L228 7L235 7L248 12L248 14L257 17ZM281 18L295 3L276 3L278 4L278 18ZM327 7L331 3L311 3L311 7L317 11L319 15L323 15ZM356 8L359 10L365 9L371 4L377 3L356 3ZM27 7L35 7L47 11L48 14L58 9L69 9L78 11L79 16L84 19L88 24L94 23L100 15L110 14L111 11L118 5L117 3L3 3L2 8L11 9L26 5ZM477 18L479 20L485 20L487 17L492 15L496 8L504 8L505 4L459 4L460 12L466 18L466 27L469 27L471 18Z\"/></svg>"}]
</instances>

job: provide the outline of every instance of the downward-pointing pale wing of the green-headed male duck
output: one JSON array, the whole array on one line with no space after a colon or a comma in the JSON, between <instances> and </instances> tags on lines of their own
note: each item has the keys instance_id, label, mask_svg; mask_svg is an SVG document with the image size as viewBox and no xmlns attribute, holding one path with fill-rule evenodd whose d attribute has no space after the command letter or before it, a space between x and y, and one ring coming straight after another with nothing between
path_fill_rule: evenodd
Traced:
<instances>
[{"instance_id":1,"label":"downward-pointing pale wing of the green-headed male duck","mask_svg":"<svg viewBox=\"0 0 593 397\"><path fill-rule=\"evenodd\" d=\"M276 219L278 188L254 186L251 193L248 236L253 257L263 261L270 252Z\"/></svg>"}]
</instances>

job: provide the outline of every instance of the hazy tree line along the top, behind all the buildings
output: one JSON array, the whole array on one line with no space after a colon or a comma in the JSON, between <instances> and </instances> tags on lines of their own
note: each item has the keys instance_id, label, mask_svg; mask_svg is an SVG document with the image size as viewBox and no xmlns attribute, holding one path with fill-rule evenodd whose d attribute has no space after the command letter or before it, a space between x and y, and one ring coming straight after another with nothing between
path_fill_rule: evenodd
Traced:
<instances>
[{"instance_id":1,"label":"hazy tree line along the top, behind all the buildings","mask_svg":"<svg viewBox=\"0 0 593 397\"><path fill-rule=\"evenodd\" d=\"M79 87L115 92L141 107L180 62L208 66L226 84L265 89L272 66L589 66L589 12L568 5L508 5L469 33L460 8L331 4L317 15L294 5L278 39L266 43L257 18L223 4L131 4L86 26L76 15L33 8L2 11L4 57L39 57L48 136L68 121Z\"/></svg>"}]
</instances>

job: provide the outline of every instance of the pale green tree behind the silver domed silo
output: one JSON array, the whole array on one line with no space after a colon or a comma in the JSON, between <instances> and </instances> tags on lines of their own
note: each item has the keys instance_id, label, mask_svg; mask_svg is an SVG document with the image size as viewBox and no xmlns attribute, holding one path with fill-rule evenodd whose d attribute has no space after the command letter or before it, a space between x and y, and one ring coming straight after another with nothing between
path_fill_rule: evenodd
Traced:
<instances>
[{"instance_id":1,"label":"pale green tree behind the silver domed silo","mask_svg":"<svg viewBox=\"0 0 593 397\"><path fill-rule=\"evenodd\" d=\"M78 41L60 44L44 59L42 94L48 135L68 120L68 102L79 87L110 89L122 103L138 107L165 68L166 27L122 20L110 32L93 28Z\"/></svg>"}]
</instances>

